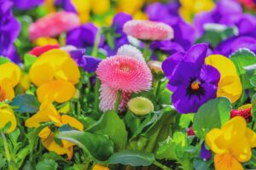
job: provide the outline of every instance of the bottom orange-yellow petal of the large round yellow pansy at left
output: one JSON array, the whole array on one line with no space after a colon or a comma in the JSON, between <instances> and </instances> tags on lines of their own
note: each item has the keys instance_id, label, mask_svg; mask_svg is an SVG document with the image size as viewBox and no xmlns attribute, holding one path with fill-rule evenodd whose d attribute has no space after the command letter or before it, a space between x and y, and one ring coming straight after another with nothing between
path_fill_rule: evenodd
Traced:
<instances>
[{"instance_id":1,"label":"bottom orange-yellow petal of the large round yellow pansy at left","mask_svg":"<svg viewBox=\"0 0 256 170\"><path fill-rule=\"evenodd\" d=\"M53 80L41 85L37 90L37 94L40 102L51 99L52 101L63 103L73 98L75 88L71 82Z\"/></svg>"}]
</instances>

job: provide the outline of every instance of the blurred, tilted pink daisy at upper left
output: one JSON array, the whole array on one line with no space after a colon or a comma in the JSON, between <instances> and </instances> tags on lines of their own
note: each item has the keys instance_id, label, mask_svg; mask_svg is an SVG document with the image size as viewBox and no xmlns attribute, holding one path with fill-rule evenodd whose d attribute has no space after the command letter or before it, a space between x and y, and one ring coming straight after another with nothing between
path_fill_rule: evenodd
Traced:
<instances>
[{"instance_id":1,"label":"blurred, tilted pink daisy at upper left","mask_svg":"<svg viewBox=\"0 0 256 170\"><path fill-rule=\"evenodd\" d=\"M62 32L69 31L80 25L77 14L65 11L49 14L37 20L29 27L29 37L35 40L38 37L55 37Z\"/></svg>"}]
</instances>

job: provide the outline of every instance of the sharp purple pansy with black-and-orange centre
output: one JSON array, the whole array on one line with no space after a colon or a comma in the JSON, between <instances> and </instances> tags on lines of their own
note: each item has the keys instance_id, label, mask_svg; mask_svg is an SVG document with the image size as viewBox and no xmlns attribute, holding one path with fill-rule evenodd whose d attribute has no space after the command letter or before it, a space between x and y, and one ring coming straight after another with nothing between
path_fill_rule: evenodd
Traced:
<instances>
[{"instance_id":1,"label":"sharp purple pansy with black-and-orange centre","mask_svg":"<svg viewBox=\"0 0 256 170\"><path fill-rule=\"evenodd\" d=\"M176 53L166 59L162 69L169 79L172 104L179 113L196 112L209 99L216 98L220 74L205 65L207 44L195 44L186 53Z\"/></svg>"}]
</instances>

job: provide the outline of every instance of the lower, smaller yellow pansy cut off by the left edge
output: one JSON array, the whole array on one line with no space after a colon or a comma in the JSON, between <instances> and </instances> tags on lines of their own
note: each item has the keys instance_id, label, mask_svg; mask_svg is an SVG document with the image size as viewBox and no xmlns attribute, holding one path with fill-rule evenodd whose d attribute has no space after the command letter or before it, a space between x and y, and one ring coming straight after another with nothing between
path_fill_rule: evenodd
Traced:
<instances>
[{"instance_id":1,"label":"lower, smaller yellow pansy cut off by the left edge","mask_svg":"<svg viewBox=\"0 0 256 170\"><path fill-rule=\"evenodd\" d=\"M17 121L16 121L15 113L9 105L2 104L2 103L0 104L0 117L1 117L0 129L5 127L5 125L8 122L10 122L11 123L10 127L6 133L13 132L17 127Z\"/></svg>"}]
</instances>

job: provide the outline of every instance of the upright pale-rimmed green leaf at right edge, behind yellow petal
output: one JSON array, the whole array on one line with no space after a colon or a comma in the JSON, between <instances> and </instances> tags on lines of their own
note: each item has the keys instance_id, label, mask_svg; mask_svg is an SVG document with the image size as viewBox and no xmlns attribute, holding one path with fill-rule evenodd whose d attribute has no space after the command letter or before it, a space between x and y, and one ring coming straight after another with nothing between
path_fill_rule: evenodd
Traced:
<instances>
[{"instance_id":1,"label":"upright pale-rimmed green leaf at right edge, behind yellow petal","mask_svg":"<svg viewBox=\"0 0 256 170\"><path fill-rule=\"evenodd\" d=\"M256 56L247 48L240 48L236 53L230 55L230 59L236 65L236 71L241 78L241 85L243 89L253 88L249 82L245 68L249 65L256 64Z\"/></svg>"}]
</instances>

